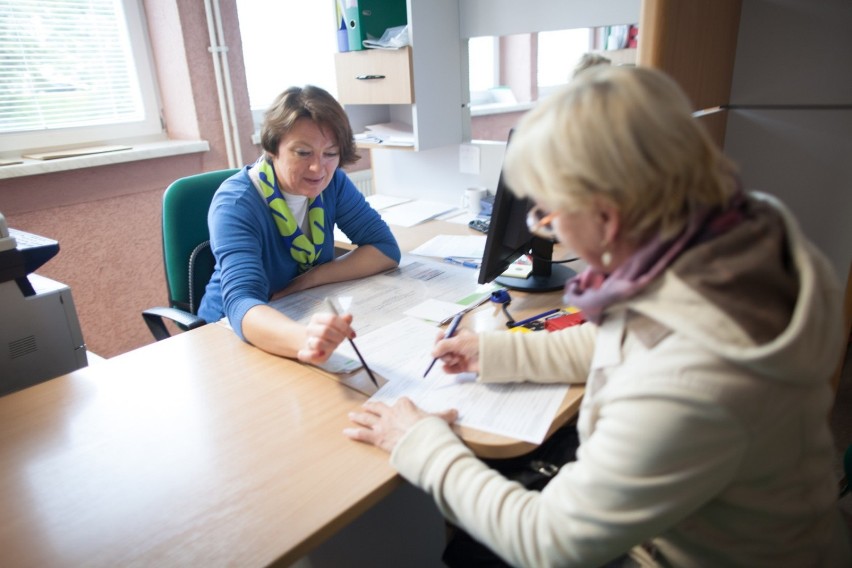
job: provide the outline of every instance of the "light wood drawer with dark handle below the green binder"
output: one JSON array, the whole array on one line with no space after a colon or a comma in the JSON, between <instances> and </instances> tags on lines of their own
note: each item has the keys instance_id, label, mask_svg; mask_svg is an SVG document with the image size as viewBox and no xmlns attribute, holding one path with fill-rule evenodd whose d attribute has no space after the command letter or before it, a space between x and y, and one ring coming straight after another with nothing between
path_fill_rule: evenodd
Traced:
<instances>
[{"instance_id":1,"label":"light wood drawer with dark handle below the green binder","mask_svg":"<svg viewBox=\"0 0 852 568\"><path fill-rule=\"evenodd\" d=\"M411 104L411 48L336 53L337 96L343 104Z\"/></svg>"}]
</instances>

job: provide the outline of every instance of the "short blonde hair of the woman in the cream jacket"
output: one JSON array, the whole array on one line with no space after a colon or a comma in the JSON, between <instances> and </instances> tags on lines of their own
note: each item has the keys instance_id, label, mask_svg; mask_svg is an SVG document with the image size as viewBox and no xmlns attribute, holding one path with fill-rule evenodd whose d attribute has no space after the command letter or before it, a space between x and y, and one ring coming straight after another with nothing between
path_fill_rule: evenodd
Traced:
<instances>
[{"instance_id":1,"label":"short blonde hair of the woman in the cream jacket","mask_svg":"<svg viewBox=\"0 0 852 568\"><path fill-rule=\"evenodd\" d=\"M565 212L603 196L626 238L679 233L698 208L724 206L735 168L660 71L595 66L518 123L505 174L520 196Z\"/></svg>"}]
</instances>

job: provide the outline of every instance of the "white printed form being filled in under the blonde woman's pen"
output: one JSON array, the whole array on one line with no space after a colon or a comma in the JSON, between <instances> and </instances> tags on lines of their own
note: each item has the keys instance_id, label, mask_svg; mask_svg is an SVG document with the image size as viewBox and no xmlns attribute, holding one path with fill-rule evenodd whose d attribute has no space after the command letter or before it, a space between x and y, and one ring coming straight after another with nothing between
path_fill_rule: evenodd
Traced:
<instances>
[{"instance_id":1,"label":"white printed form being filled in under the blonde woman's pen","mask_svg":"<svg viewBox=\"0 0 852 568\"><path fill-rule=\"evenodd\" d=\"M547 435L568 385L476 383L469 374L447 375L432 361L440 331L421 320L403 318L358 337L358 349L373 370L388 380L370 400L392 404L407 396L417 406L438 412L455 408L458 423L510 438L540 444ZM338 351L347 355L351 347Z\"/></svg>"}]
</instances>

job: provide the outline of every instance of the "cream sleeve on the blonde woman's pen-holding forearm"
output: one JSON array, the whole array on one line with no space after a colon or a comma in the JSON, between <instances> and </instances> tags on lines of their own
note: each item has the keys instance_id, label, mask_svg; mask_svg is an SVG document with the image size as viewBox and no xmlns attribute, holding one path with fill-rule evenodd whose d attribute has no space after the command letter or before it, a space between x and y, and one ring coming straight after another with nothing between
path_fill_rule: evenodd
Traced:
<instances>
[{"instance_id":1,"label":"cream sleeve on the blonde woman's pen-holding forearm","mask_svg":"<svg viewBox=\"0 0 852 568\"><path fill-rule=\"evenodd\" d=\"M584 383L597 326L586 323L553 333L495 331L479 338L479 380Z\"/></svg>"}]
</instances>

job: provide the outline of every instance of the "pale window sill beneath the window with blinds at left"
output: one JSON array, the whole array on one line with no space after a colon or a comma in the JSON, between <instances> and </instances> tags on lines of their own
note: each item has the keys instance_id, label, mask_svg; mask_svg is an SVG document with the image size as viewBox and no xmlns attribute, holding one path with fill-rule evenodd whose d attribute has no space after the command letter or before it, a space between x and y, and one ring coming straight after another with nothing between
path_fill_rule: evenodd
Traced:
<instances>
[{"instance_id":1,"label":"pale window sill beneath the window with blinds at left","mask_svg":"<svg viewBox=\"0 0 852 568\"><path fill-rule=\"evenodd\" d=\"M128 150L90 154L88 156L74 156L55 160L28 160L24 158L20 164L0 166L0 179L108 166L111 164L150 160L152 158L166 158L181 154L208 152L209 150L210 144L206 140L166 140L163 142L134 144Z\"/></svg>"}]
</instances>

